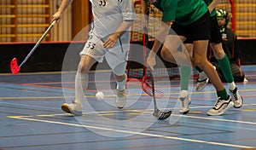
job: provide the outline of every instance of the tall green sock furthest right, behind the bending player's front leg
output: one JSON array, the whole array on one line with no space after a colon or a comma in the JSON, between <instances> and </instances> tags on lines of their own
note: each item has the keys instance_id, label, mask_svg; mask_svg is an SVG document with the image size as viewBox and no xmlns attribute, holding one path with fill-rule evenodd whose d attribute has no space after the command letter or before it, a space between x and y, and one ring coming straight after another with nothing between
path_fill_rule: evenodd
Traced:
<instances>
[{"instance_id":1,"label":"tall green sock furthest right, behind the bending player's front leg","mask_svg":"<svg viewBox=\"0 0 256 150\"><path fill-rule=\"evenodd\" d=\"M218 66L220 70L223 72L226 81L228 83L232 83L234 81L234 78L230 68L230 61L226 54L224 54L224 58L222 60L218 60Z\"/></svg>"}]
</instances>

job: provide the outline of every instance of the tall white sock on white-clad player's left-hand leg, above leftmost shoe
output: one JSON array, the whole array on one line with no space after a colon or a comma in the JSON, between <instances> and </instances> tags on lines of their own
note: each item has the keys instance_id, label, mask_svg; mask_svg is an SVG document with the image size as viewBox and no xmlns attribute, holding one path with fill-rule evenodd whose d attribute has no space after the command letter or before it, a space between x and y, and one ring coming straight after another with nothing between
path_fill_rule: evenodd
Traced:
<instances>
[{"instance_id":1,"label":"tall white sock on white-clad player's left-hand leg, above leftmost shoe","mask_svg":"<svg viewBox=\"0 0 256 150\"><path fill-rule=\"evenodd\" d=\"M85 89L88 86L88 73L77 72L75 78L75 102L82 104Z\"/></svg>"}]
</instances>

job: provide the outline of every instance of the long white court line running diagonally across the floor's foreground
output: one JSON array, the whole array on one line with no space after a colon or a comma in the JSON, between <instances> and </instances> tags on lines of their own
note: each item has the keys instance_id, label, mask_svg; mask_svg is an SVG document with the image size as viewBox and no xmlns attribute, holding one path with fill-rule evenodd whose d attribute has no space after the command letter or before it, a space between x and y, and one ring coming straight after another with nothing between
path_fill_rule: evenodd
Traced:
<instances>
[{"instance_id":1,"label":"long white court line running diagonally across the floor's foreground","mask_svg":"<svg viewBox=\"0 0 256 150\"><path fill-rule=\"evenodd\" d=\"M62 124L62 125L70 125L70 126L76 126L76 127L85 127L85 128L90 128L90 129L96 129L96 130L108 130L108 131L113 131L113 132L135 134L135 135L140 135L140 136L159 137L159 138L172 139L172 140L177 140L177 141L198 142L198 143L211 144L211 145L224 146L224 147L255 148L255 147L221 143L221 142L215 142L215 141L193 140L193 139L189 139L189 138L182 138L182 137L175 137L175 136L162 136L162 135L135 132L135 131L129 131L129 130L114 130L111 128L102 128L102 127L96 127L96 126L90 126L90 125L63 123L63 122L49 121L49 120L35 119L35 118L23 118L23 117L15 117L15 116L9 116L9 118L17 118L17 119L37 121L37 122L43 122L43 123L49 123L49 124Z\"/></svg>"}]
</instances>

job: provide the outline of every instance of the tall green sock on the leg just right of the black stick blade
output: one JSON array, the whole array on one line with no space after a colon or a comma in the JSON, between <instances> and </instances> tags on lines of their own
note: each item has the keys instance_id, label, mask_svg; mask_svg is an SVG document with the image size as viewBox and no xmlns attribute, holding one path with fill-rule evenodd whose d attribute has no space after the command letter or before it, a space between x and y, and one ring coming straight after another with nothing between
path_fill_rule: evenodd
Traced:
<instances>
[{"instance_id":1,"label":"tall green sock on the leg just right of the black stick blade","mask_svg":"<svg viewBox=\"0 0 256 150\"><path fill-rule=\"evenodd\" d=\"M180 76L181 76L181 90L189 89L189 77L191 74L190 66L180 66Z\"/></svg>"}]
</instances>

